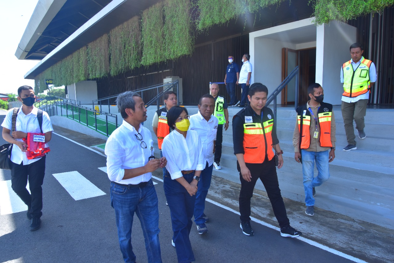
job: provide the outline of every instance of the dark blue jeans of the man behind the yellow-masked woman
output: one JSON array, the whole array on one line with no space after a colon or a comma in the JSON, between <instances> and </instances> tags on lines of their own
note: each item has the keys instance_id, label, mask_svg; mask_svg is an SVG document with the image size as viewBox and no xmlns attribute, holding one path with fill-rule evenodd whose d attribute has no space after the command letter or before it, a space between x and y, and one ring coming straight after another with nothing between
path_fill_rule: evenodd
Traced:
<instances>
[{"instance_id":1,"label":"dark blue jeans of the man behind the yellow-masked woman","mask_svg":"<svg viewBox=\"0 0 394 263\"><path fill-rule=\"evenodd\" d=\"M208 194L208 189L211 186L212 169L214 164L208 166L206 163L204 170L201 172L200 180L198 182L198 190L196 194L196 202L194 205L194 222L199 225L205 223L203 218L205 209L205 198Z\"/></svg>"}]
</instances>

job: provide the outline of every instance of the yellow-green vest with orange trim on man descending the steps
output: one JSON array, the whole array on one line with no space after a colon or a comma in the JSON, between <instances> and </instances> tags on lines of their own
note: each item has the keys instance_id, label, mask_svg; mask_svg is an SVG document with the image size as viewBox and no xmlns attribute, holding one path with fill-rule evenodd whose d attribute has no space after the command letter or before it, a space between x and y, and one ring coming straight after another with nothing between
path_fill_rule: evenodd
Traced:
<instances>
[{"instance_id":1,"label":"yellow-green vest with orange trim on man descending the steps","mask_svg":"<svg viewBox=\"0 0 394 263\"><path fill-rule=\"evenodd\" d=\"M361 63L356 70L353 70L351 60L342 65L344 74L343 96L354 98L365 94L370 88L369 68L372 61L361 57Z\"/></svg>"}]
</instances>

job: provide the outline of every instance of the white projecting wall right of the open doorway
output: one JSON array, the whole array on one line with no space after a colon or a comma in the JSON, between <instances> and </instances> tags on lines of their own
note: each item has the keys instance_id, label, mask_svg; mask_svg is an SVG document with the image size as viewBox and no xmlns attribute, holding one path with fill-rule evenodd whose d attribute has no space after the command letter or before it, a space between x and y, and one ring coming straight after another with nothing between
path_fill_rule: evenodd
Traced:
<instances>
[{"instance_id":1,"label":"white projecting wall right of the open doorway","mask_svg":"<svg viewBox=\"0 0 394 263\"><path fill-rule=\"evenodd\" d=\"M350 59L349 47L356 42L356 28L332 21L316 29L316 82L324 89L324 101L341 104L343 85L340 69Z\"/></svg>"}]
</instances>

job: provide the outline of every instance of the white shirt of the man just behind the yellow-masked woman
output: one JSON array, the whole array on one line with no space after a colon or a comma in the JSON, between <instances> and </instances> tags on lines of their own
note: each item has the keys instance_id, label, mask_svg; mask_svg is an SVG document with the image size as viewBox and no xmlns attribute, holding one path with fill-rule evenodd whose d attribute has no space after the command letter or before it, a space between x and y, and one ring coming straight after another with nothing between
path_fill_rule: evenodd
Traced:
<instances>
[{"instance_id":1,"label":"white shirt of the man just behind the yellow-masked woman","mask_svg":"<svg viewBox=\"0 0 394 263\"><path fill-rule=\"evenodd\" d=\"M204 168L206 162L208 162L208 166L214 163L214 141L216 141L218 122L216 116L213 115L206 121L200 111L190 116L189 130L197 131L203 144Z\"/></svg>"}]
</instances>

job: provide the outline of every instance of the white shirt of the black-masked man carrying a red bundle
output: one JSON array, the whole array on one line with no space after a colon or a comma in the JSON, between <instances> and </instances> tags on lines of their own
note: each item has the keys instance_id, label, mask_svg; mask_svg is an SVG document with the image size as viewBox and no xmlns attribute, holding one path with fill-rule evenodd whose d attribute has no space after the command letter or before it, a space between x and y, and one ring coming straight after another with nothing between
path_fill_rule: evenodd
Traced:
<instances>
[{"instance_id":1,"label":"white shirt of the black-masked man carrying a red bundle","mask_svg":"<svg viewBox=\"0 0 394 263\"><path fill-rule=\"evenodd\" d=\"M4 128L10 130L11 132L12 132L12 113L13 113L13 109L10 109L7 112L6 118L4 118L4 121L1 125ZM28 132L28 133L41 133L40 124L38 123L37 113L38 113L38 109L36 107L33 107L32 111L28 115L25 115L22 111L22 107L20 107L17 115L17 121L15 122L16 130ZM43 129L43 133L46 133L48 131L53 131L50 118L48 116L48 113L46 113L45 111L43 111L42 129ZM23 141L23 139L16 139L16 140ZM48 147L48 145L45 144L45 147ZM20 150L20 148L17 145L14 144L12 147L11 162L13 163L20 164L21 162L23 162L23 165L26 165L33 162L37 162L40 159L41 158L29 160L26 156L26 152L22 152L22 150Z\"/></svg>"}]
</instances>

